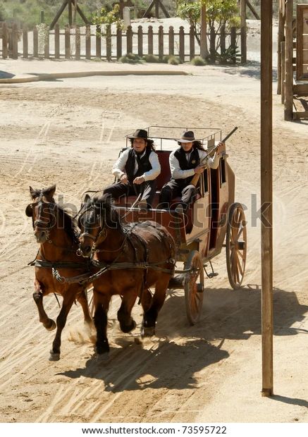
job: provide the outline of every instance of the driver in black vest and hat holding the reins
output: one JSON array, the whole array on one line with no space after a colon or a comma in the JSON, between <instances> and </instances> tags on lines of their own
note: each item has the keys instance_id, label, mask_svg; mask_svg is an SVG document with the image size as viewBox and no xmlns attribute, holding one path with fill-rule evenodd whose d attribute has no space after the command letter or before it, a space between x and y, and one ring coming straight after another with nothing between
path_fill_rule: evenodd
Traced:
<instances>
[{"instance_id":1,"label":"driver in black vest and hat holding the reins","mask_svg":"<svg viewBox=\"0 0 308 437\"><path fill-rule=\"evenodd\" d=\"M112 199L123 195L140 195L138 207L151 208L156 192L156 178L161 173L154 142L149 140L147 130L143 129L137 129L128 138L131 149L124 150L112 168L112 174L119 182L106 187L104 194L111 195Z\"/></svg>"}]
</instances>

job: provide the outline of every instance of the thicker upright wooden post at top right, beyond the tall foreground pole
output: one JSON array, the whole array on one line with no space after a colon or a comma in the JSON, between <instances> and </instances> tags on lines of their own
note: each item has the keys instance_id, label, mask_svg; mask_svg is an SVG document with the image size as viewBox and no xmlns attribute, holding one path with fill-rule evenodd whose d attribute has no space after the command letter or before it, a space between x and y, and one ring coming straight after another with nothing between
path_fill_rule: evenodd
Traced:
<instances>
[{"instance_id":1,"label":"thicker upright wooden post at top right, beyond the tall foreground pole","mask_svg":"<svg viewBox=\"0 0 308 437\"><path fill-rule=\"evenodd\" d=\"M293 0L285 2L285 120L293 118Z\"/></svg>"}]
</instances>

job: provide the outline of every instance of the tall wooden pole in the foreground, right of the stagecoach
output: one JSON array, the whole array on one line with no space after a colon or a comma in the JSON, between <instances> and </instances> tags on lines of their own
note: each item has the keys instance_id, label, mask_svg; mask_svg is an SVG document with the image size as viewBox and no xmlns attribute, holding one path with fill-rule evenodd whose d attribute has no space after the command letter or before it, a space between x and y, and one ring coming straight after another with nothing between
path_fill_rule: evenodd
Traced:
<instances>
[{"instance_id":1,"label":"tall wooden pole in the foreground, right of the stagecoach","mask_svg":"<svg viewBox=\"0 0 308 437\"><path fill-rule=\"evenodd\" d=\"M261 1L262 396L273 395L272 7Z\"/></svg>"}]
</instances>

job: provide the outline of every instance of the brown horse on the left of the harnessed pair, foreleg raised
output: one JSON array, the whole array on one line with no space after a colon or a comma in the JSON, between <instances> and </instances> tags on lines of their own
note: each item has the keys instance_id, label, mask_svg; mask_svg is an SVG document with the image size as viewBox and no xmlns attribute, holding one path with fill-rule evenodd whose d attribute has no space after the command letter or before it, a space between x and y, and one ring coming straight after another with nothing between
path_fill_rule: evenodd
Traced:
<instances>
[{"instance_id":1,"label":"brown horse on the left of the harnessed pair, foreleg raised","mask_svg":"<svg viewBox=\"0 0 308 437\"><path fill-rule=\"evenodd\" d=\"M82 306L85 323L92 324L85 285L79 283L59 282L53 275L53 269L59 269L63 276L75 276L87 272L87 261L78 257L78 232L73 219L54 202L56 185L46 190L33 190L30 187L32 203L25 214L32 217L34 234L39 243L39 252L35 261L35 293L33 298L39 311L39 321L48 331L56 328L56 336L49 359L60 359L61 333L66 324L68 312L75 300ZM56 324L47 316L43 297L57 293L63 297L61 311Z\"/></svg>"}]
</instances>

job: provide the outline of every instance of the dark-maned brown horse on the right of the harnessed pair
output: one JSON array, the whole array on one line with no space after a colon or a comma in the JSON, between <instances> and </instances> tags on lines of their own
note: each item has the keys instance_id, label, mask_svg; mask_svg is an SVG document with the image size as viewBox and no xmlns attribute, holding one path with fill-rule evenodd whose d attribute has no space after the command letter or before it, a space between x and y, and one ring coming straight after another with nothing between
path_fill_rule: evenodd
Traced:
<instances>
[{"instance_id":1,"label":"dark-maned brown horse on the right of the harnessed pair","mask_svg":"<svg viewBox=\"0 0 308 437\"><path fill-rule=\"evenodd\" d=\"M94 325L97 354L109 352L107 312L112 295L120 295L118 321L125 333L136 324L131 311L140 297L144 310L141 335L154 335L174 270L175 242L168 230L155 222L121 224L108 197L86 197L79 216L80 252L98 261L101 274L93 280ZM154 295L149 288L154 287Z\"/></svg>"}]
</instances>

